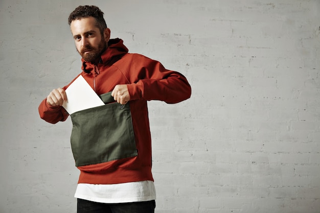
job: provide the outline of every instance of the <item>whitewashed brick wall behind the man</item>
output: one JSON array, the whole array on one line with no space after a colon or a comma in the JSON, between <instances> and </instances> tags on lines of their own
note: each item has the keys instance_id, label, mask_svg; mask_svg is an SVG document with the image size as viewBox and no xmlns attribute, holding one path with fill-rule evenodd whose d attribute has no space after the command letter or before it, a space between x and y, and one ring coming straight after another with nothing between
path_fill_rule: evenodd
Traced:
<instances>
[{"instance_id":1,"label":"whitewashed brick wall behind the man","mask_svg":"<svg viewBox=\"0 0 320 213\"><path fill-rule=\"evenodd\" d=\"M85 1L0 2L0 212L76 212L71 121L39 119L80 72L68 14ZM111 37L189 79L150 102L156 212L320 212L320 2L90 2Z\"/></svg>"}]
</instances>

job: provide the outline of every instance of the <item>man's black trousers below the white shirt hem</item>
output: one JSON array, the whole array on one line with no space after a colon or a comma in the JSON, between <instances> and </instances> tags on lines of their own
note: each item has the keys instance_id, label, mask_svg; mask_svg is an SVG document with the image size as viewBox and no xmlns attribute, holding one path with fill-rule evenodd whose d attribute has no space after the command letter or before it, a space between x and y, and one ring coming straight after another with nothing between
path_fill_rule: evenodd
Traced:
<instances>
[{"instance_id":1,"label":"man's black trousers below the white shirt hem","mask_svg":"<svg viewBox=\"0 0 320 213\"><path fill-rule=\"evenodd\" d=\"M155 201L96 203L78 198L77 213L154 213Z\"/></svg>"}]
</instances>

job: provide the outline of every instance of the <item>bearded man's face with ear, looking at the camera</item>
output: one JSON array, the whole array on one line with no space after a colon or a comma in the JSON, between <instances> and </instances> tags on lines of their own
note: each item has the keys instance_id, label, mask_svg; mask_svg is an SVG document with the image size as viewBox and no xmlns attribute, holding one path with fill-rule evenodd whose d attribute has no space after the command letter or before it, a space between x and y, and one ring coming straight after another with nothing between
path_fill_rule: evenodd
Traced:
<instances>
[{"instance_id":1,"label":"bearded man's face with ear, looking at the camera","mask_svg":"<svg viewBox=\"0 0 320 213\"><path fill-rule=\"evenodd\" d=\"M70 29L82 58L92 63L99 61L102 52L107 48L109 29L106 29L102 36L94 17L73 20Z\"/></svg>"}]
</instances>

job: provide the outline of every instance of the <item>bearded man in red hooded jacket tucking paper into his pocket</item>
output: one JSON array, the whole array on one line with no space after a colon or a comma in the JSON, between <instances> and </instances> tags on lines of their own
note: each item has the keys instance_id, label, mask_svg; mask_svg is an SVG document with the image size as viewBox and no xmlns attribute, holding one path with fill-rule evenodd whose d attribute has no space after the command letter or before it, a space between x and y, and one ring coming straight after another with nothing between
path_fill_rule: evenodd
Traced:
<instances>
[{"instance_id":1,"label":"bearded man in red hooded jacket tucking paper into his pocket","mask_svg":"<svg viewBox=\"0 0 320 213\"><path fill-rule=\"evenodd\" d=\"M178 103L190 98L191 87L180 73L165 69L158 61L128 53L119 38L110 39L103 14L96 6L79 6L68 18L82 57L83 72L78 76L81 75L99 96L109 93L116 102L113 104L121 106L113 107L114 110L128 111L110 114L110 109L94 108L94 113L98 113L94 115L80 111L84 116L80 124L77 123L78 114L74 115L77 112L71 114L73 128L80 128L79 131L73 129L72 133L72 151L80 170L75 193L77 210L78 213L154 212L147 101ZM70 84L53 89L40 103L39 114L43 120L55 124L67 119L69 114L62 104L67 101L65 89ZM100 111L109 115L100 115ZM123 128L122 122L128 127ZM104 136L105 132L111 136ZM88 138L85 143L84 138Z\"/></svg>"}]
</instances>

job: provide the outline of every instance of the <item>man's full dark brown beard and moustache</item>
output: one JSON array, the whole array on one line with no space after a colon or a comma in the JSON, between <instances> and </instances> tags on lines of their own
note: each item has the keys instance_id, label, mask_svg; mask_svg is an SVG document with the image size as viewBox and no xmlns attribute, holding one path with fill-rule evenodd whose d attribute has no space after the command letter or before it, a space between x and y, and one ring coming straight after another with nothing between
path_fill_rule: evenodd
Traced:
<instances>
[{"instance_id":1,"label":"man's full dark brown beard and moustache","mask_svg":"<svg viewBox=\"0 0 320 213\"><path fill-rule=\"evenodd\" d=\"M101 39L100 43L98 44L98 48L94 48L90 44L85 45L79 54L83 58L83 60L95 63L100 60L101 54L106 50L107 43L104 39ZM86 51L90 51L89 53L85 53Z\"/></svg>"}]
</instances>

